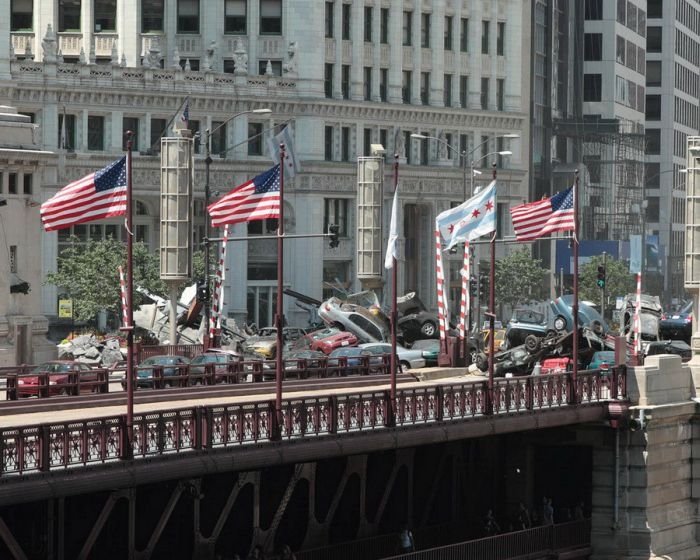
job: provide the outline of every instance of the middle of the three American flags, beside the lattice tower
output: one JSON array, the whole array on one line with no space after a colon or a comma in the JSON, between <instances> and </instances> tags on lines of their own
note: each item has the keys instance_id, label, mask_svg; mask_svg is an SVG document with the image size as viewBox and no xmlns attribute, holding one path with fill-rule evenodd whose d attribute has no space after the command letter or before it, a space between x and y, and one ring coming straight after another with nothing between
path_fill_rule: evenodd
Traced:
<instances>
[{"instance_id":1,"label":"middle of the three American flags, beside the lattice tower","mask_svg":"<svg viewBox=\"0 0 700 560\"><path fill-rule=\"evenodd\" d=\"M213 227L279 217L279 164L237 186L226 196L210 204L207 211Z\"/></svg>"}]
</instances>

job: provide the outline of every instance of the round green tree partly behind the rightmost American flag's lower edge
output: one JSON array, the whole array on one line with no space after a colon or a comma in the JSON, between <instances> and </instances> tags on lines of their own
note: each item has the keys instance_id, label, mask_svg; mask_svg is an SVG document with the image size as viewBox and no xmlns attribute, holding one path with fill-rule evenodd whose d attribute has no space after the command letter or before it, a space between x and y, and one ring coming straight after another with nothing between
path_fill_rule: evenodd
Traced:
<instances>
[{"instance_id":1,"label":"round green tree partly behind the rightmost American flag's lower edge","mask_svg":"<svg viewBox=\"0 0 700 560\"><path fill-rule=\"evenodd\" d=\"M517 307L545 297L547 270L533 259L530 249L521 247L496 263L496 301Z\"/></svg>"}]
</instances>

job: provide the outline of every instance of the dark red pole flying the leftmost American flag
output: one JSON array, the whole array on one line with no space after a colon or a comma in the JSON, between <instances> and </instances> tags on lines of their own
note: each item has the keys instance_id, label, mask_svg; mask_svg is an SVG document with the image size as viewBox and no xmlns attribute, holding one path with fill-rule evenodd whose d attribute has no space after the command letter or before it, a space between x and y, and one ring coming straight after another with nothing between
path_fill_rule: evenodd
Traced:
<instances>
[{"instance_id":1,"label":"dark red pole flying the leftmost American flag","mask_svg":"<svg viewBox=\"0 0 700 560\"><path fill-rule=\"evenodd\" d=\"M133 132L126 133L126 442L122 453L131 458L134 441L134 236L132 235L131 163Z\"/></svg>"}]
</instances>

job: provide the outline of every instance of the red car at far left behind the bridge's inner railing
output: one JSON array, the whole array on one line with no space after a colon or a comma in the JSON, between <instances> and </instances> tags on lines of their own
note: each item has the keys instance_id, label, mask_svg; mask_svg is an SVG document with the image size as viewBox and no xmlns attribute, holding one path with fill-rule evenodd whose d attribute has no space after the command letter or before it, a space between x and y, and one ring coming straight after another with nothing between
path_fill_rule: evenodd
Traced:
<instances>
[{"instance_id":1,"label":"red car at far left behind the bridge's inner railing","mask_svg":"<svg viewBox=\"0 0 700 560\"><path fill-rule=\"evenodd\" d=\"M17 396L18 397L38 397L42 385L46 384L46 376L36 375L39 373L48 373L48 396L54 395L74 395L81 393L95 393L99 391L99 387L95 384L88 384L98 380L97 370L92 369L88 364L76 362L73 360L53 360L44 362L36 366L31 375L17 376ZM71 373L77 373L73 381L71 381ZM72 383L80 383L75 386Z\"/></svg>"}]
</instances>

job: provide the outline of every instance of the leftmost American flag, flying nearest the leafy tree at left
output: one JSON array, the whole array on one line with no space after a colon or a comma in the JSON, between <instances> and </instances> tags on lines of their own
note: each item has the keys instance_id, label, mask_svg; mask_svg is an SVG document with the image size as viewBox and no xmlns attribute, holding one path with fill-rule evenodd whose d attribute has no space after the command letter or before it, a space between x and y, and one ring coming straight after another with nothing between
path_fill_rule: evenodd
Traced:
<instances>
[{"instance_id":1,"label":"leftmost American flag, flying nearest the leafy tree at left","mask_svg":"<svg viewBox=\"0 0 700 560\"><path fill-rule=\"evenodd\" d=\"M63 187L41 205L46 231L126 214L126 156Z\"/></svg>"}]
</instances>

